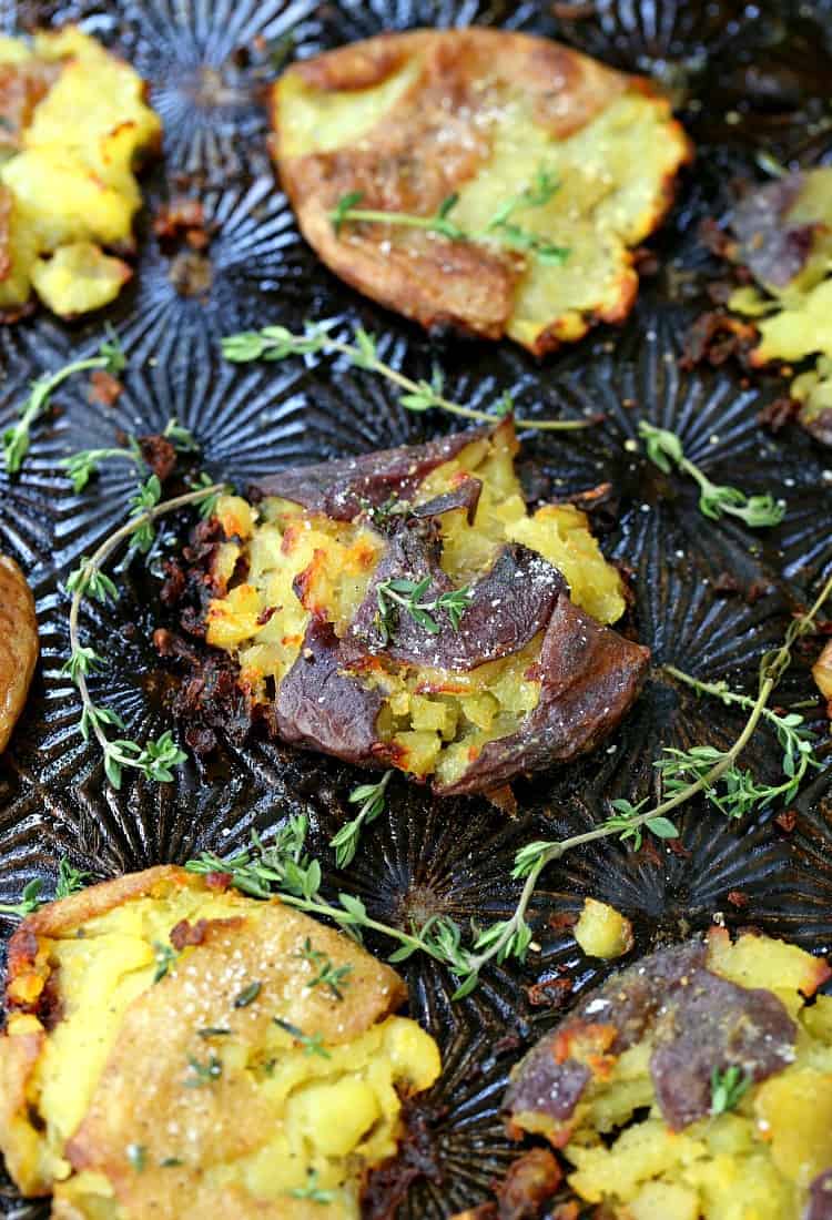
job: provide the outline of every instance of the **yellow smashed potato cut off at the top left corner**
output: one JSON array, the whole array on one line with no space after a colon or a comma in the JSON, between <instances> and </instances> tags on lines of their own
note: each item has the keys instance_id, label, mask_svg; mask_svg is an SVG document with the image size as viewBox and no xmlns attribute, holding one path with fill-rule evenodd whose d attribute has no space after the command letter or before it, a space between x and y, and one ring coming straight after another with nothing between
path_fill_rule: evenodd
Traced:
<instances>
[{"instance_id":1,"label":"yellow smashed potato cut off at the top left corner","mask_svg":"<svg viewBox=\"0 0 832 1220\"><path fill-rule=\"evenodd\" d=\"M144 82L79 29L0 37L0 314L34 288L73 317L115 300L142 204L134 170L157 145ZM102 248L109 248L107 254Z\"/></svg>"}]
</instances>

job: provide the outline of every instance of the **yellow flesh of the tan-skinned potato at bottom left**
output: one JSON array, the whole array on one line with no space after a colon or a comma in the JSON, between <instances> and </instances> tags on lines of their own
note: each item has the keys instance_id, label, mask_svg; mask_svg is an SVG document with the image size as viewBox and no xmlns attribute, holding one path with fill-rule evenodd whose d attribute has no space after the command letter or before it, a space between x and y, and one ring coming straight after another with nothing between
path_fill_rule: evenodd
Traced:
<instances>
[{"instance_id":1,"label":"yellow flesh of the tan-skinned potato at bottom left","mask_svg":"<svg viewBox=\"0 0 832 1220\"><path fill-rule=\"evenodd\" d=\"M259 910L259 904L246 902L246 920L256 921ZM183 919L193 925L240 911L240 898L233 893L173 891L89 919L83 936L67 933L45 943L51 970L60 971L63 1008L28 1089L45 1121L29 1175L32 1181L56 1181L56 1200L72 1200L79 1216L116 1220L121 1215L105 1176L81 1172L71 1177L63 1147L89 1108L124 1014L156 986L160 946L170 946L170 931ZM171 970L187 971L189 956L198 953L198 948L185 948L174 955ZM188 1014L178 1019L187 1021ZM33 1016L13 1015L9 1032L13 1038L33 1022L38 1025ZM226 1164L206 1165L206 1181L243 1186L255 1197L279 1200L304 1187L315 1172L321 1190L334 1191L332 1205L321 1209L326 1220L357 1220L362 1169L396 1148L398 1089L426 1088L440 1069L432 1038L415 1022L396 1016L328 1046L326 1057L307 1054L273 1022L254 1049L233 1038L212 1039L206 1047L222 1060L226 1076L240 1072L254 1082L270 1115L260 1146Z\"/></svg>"}]
</instances>

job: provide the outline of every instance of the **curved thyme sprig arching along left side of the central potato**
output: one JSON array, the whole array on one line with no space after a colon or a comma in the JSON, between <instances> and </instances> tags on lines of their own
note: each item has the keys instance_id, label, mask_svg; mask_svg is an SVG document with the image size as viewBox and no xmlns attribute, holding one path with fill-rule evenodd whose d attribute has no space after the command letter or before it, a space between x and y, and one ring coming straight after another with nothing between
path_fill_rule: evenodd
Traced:
<instances>
[{"instance_id":1,"label":"curved thyme sprig arching along left side of the central potato","mask_svg":"<svg viewBox=\"0 0 832 1220\"><path fill-rule=\"evenodd\" d=\"M154 479L155 483L152 482ZM96 601L115 600L117 598L118 589L106 572L102 571L102 567L122 543L138 539L139 547L144 547L148 540L148 531L152 529L152 525L159 517L190 504L201 504L207 497L215 495L223 489L223 484L221 483L210 484L196 492L188 492L184 495L174 497L172 500L160 503L156 495L157 484L159 479L156 479L156 476L151 476L139 493L142 503L146 506L137 511L129 521L105 538L90 558L84 556L81 565L67 580L67 590L72 593L72 603L70 605L70 659L65 664L62 672L72 680L81 694L82 714L78 722L78 731L84 741L89 741L90 734L98 739L104 753L104 770L113 788L121 787L124 767L139 771L159 783L170 783L173 778L172 767L184 762L187 756L176 744L168 731L161 733L156 741L150 739L145 742L144 745L126 737L116 741L111 741L107 737L107 727L115 727L123 733L126 732L126 726L117 712L109 708L100 708L93 702L87 678L93 669L104 665L104 660L94 649L85 648L81 643L78 626L84 598L89 597ZM137 506L139 497L137 497ZM150 540L152 540L152 536Z\"/></svg>"}]
</instances>

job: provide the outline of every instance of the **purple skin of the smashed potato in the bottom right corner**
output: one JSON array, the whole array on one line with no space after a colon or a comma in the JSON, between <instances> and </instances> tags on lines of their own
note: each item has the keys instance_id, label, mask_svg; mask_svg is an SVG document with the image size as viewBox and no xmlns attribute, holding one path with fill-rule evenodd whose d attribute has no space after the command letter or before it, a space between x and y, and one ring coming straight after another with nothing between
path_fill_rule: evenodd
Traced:
<instances>
[{"instance_id":1,"label":"purple skin of the smashed potato in the bottom right corner","mask_svg":"<svg viewBox=\"0 0 832 1220\"><path fill-rule=\"evenodd\" d=\"M568 1050L590 1026L606 1027L614 1055L651 1037L650 1075L673 1131L709 1115L714 1069L736 1065L756 1083L787 1068L797 1027L781 1000L714 974L706 956L703 941L689 941L612 975L515 1069L505 1096L510 1114L571 1118L590 1072Z\"/></svg>"}]
</instances>

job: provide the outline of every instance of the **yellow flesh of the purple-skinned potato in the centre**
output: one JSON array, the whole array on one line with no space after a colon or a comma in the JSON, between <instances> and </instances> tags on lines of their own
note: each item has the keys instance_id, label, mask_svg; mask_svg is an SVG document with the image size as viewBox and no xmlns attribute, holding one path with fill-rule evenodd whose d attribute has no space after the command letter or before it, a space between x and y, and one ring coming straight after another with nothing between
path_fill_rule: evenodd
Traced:
<instances>
[{"instance_id":1,"label":"yellow flesh of the purple-skinned potato in the centre","mask_svg":"<svg viewBox=\"0 0 832 1220\"><path fill-rule=\"evenodd\" d=\"M439 518L444 571L462 586L492 565L501 545L520 542L564 573L577 605L601 622L615 621L625 609L621 577L601 555L586 515L572 505L550 505L529 517L514 471L515 449L516 442L500 429L422 481L414 497L418 504L466 476L483 483L472 526L461 510ZM298 658L310 605L344 636L384 543L367 526L328 521L287 501L267 499L259 511L255 522L239 498L218 503L229 540L220 550L215 575L232 580L240 558L248 560L248 571L245 581L232 581L228 592L211 601L206 638L237 658L251 698L264 702ZM294 592L301 573L307 573L306 606ZM279 610L267 617L274 606ZM396 765L451 783L489 741L516 732L539 702L539 681L526 676L539 650L537 638L516 655L468 672L386 664L362 676L365 686L384 693L377 727L383 741L400 748Z\"/></svg>"}]
</instances>

